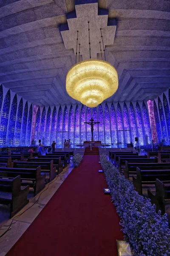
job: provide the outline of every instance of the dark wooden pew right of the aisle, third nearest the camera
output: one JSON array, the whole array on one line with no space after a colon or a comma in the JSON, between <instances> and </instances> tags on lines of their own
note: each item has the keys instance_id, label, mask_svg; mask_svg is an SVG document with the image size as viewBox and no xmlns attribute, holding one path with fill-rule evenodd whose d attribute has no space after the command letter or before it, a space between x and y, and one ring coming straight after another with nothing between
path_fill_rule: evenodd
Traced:
<instances>
[{"instance_id":1,"label":"dark wooden pew right of the aisle, third nearest the camera","mask_svg":"<svg viewBox=\"0 0 170 256\"><path fill-rule=\"evenodd\" d=\"M152 160L154 158L151 158ZM170 168L170 163L154 163L153 161L149 161L147 163L144 163L144 161L140 161L136 163L136 161L127 160L125 161L125 169L124 169L124 176L126 179L129 179L129 175L136 175L136 168L139 167L141 170L152 170L152 169L157 169L157 168L162 168L162 169L169 169Z\"/></svg>"}]
</instances>

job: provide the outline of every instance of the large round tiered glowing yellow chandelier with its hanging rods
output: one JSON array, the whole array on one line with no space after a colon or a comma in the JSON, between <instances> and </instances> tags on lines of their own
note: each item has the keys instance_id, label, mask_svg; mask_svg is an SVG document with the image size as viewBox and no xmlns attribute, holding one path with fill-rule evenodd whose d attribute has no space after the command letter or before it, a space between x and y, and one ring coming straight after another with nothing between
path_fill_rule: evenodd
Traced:
<instances>
[{"instance_id":1,"label":"large round tiered glowing yellow chandelier with its hanging rods","mask_svg":"<svg viewBox=\"0 0 170 256\"><path fill-rule=\"evenodd\" d=\"M88 31L89 30L88 22ZM99 42L99 44L100 43L101 42ZM116 92L118 89L118 75L116 69L107 61L91 59L90 32L89 51L90 59L77 63L76 50L76 64L71 67L66 77L66 91L73 99L78 100L87 107L94 108ZM102 56L101 44L100 51ZM103 51L105 54L105 49Z\"/></svg>"}]
</instances>

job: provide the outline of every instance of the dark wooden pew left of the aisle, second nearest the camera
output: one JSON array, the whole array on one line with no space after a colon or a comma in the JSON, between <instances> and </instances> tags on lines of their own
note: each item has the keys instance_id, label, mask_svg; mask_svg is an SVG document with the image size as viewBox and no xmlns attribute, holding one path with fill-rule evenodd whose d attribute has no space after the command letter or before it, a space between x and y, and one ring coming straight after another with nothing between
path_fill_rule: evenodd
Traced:
<instances>
[{"instance_id":1,"label":"dark wooden pew left of the aisle, second nearest the camera","mask_svg":"<svg viewBox=\"0 0 170 256\"><path fill-rule=\"evenodd\" d=\"M45 187L45 174L41 175L40 166L36 169L0 167L0 176L16 177L18 175L20 175L22 186L29 185L34 188L34 196Z\"/></svg>"}]
</instances>

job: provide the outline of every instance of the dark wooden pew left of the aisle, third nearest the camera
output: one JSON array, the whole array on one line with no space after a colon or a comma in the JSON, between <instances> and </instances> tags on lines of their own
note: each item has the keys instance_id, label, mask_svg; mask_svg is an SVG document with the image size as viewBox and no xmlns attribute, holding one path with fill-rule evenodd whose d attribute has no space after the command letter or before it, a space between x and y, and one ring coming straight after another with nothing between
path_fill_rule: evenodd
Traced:
<instances>
[{"instance_id":1,"label":"dark wooden pew left of the aisle, third nearest the camera","mask_svg":"<svg viewBox=\"0 0 170 256\"><path fill-rule=\"evenodd\" d=\"M49 162L17 162L14 161L14 168L32 168L36 169L41 166L41 175L45 174L45 179L47 180L49 175L49 182L56 177L56 167L53 166L53 160Z\"/></svg>"}]
</instances>

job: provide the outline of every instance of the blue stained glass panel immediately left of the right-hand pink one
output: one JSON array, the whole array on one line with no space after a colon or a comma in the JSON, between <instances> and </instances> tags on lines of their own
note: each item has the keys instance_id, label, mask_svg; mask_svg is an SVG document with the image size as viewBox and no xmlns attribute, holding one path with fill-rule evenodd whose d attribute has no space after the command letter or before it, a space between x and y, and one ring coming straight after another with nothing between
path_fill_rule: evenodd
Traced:
<instances>
[{"instance_id":1,"label":"blue stained glass panel immediately left of the right-hand pink one","mask_svg":"<svg viewBox=\"0 0 170 256\"><path fill-rule=\"evenodd\" d=\"M145 103L142 103L142 114L143 114L143 122L144 122L144 132L145 132L145 145L147 142L151 144L151 129L150 129L150 122L149 122L149 116L147 112L147 107Z\"/></svg>"}]
</instances>

